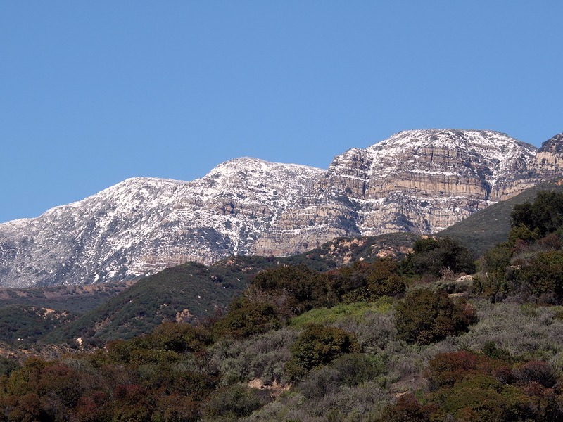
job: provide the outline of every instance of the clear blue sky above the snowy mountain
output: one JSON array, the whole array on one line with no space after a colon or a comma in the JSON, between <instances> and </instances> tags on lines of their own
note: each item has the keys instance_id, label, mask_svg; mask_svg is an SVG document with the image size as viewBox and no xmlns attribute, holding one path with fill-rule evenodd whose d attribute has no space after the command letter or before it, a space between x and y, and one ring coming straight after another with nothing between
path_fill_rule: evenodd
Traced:
<instances>
[{"instance_id":1,"label":"clear blue sky above the snowy mountain","mask_svg":"<svg viewBox=\"0 0 563 422\"><path fill-rule=\"evenodd\" d=\"M127 177L563 132L561 1L1 1L0 222Z\"/></svg>"}]
</instances>

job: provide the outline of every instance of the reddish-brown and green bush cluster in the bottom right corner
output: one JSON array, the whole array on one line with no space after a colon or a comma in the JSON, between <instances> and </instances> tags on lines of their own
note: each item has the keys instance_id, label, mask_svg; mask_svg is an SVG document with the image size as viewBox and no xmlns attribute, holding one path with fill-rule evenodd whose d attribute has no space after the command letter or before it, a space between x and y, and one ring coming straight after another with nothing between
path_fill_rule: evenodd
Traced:
<instances>
[{"instance_id":1,"label":"reddish-brown and green bush cluster in the bottom right corner","mask_svg":"<svg viewBox=\"0 0 563 422\"><path fill-rule=\"evenodd\" d=\"M431 359L426 376L430 390L420 402L413 395L402 396L384 411L381 421L547 422L563 418L557 376L546 362L452 352Z\"/></svg>"}]
</instances>

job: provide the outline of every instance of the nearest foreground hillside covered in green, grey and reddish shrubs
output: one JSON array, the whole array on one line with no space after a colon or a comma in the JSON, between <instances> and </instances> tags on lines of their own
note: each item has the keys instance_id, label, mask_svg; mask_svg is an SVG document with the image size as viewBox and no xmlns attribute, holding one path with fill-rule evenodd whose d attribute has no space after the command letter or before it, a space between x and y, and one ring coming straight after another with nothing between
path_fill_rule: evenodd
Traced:
<instances>
[{"instance_id":1,"label":"nearest foreground hillside covered in green, grey and reddish shrubs","mask_svg":"<svg viewBox=\"0 0 563 422\"><path fill-rule=\"evenodd\" d=\"M451 238L419 239L402 259L329 269L272 259L248 276L227 312L198 324L167 321L53 360L2 359L0 414L7 421L563 420L563 194L539 193L511 219L507 240L476 263ZM233 274L252 267L243 261L232 261ZM221 275L194 264L175 271ZM161 319L165 311L157 312Z\"/></svg>"}]
</instances>

